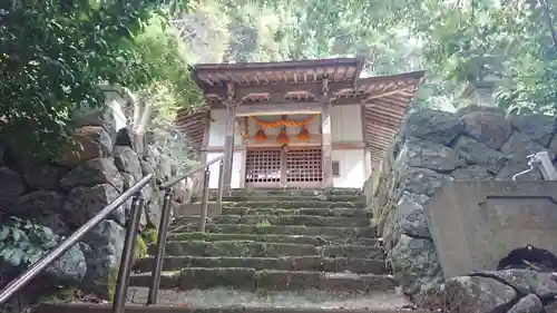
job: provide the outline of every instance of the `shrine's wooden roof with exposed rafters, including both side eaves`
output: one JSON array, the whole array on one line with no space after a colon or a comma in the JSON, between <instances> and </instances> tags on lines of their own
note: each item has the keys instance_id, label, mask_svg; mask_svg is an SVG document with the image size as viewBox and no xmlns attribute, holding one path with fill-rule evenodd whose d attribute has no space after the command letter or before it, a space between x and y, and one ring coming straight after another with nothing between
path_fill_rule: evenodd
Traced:
<instances>
[{"instance_id":1,"label":"shrine's wooden roof with exposed rafters, including both side eaves","mask_svg":"<svg viewBox=\"0 0 557 313\"><path fill-rule=\"evenodd\" d=\"M273 106L319 104L323 80L332 106L360 105L365 145L371 162L379 164L399 130L409 104L416 96L424 71L360 78L363 59L339 58L307 61L212 63L193 67L193 78L203 89L211 108L223 108L228 88L234 101L246 105ZM231 88L232 88L231 87ZM177 125L188 137L202 144L201 118L182 110Z\"/></svg>"}]
</instances>

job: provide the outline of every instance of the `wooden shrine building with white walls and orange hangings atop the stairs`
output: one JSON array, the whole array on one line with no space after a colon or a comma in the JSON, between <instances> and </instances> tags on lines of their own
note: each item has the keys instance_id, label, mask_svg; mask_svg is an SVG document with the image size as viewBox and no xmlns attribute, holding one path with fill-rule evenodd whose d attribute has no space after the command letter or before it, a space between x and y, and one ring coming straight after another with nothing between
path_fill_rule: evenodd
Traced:
<instances>
[{"instance_id":1,"label":"wooden shrine building with white walls and orange hangings atop the stairs","mask_svg":"<svg viewBox=\"0 0 557 313\"><path fill-rule=\"evenodd\" d=\"M358 58L197 65L207 108L178 128L202 162L224 154L227 188L361 187L389 148L423 71L360 78ZM211 167L216 188L218 165Z\"/></svg>"}]
</instances>

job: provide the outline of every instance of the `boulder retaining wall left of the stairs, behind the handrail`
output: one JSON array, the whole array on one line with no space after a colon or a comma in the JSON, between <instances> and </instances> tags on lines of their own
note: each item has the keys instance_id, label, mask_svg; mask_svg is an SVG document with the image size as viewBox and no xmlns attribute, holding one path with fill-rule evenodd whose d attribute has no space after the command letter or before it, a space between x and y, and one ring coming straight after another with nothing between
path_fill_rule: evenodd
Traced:
<instances>
[{"instance_id":1,"label":"boulder retaining wall left of the stairs, behind the handrail","mask_svg":"<svg viewBox=\"0 0 557 313\"><path fill-rule=\"evenodd\" d=\"M156 187L176 174L170 159L153 146L138 154L129 131L117 129L114 108L80 111L76 123L77 147L56 162L0 146L0 216L32 219L56 235L68 236L141 177L155 174L156 182L143 192L141 228L156 228L163 204ZM178 200L186 202L180 187L176 190ZM130 202L86 235L86 245L71 248L49 271L50 277L108 297L120 262Z\"/></svg>"}]
</instances>

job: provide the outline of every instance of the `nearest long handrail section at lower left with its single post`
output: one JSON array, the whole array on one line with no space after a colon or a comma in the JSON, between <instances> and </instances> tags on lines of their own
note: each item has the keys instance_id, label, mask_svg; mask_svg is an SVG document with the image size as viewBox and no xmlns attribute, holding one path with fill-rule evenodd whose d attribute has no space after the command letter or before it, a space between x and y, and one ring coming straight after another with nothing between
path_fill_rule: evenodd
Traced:
<instances>
[{"instance_id":1,"label":"nearest long handrail section at lower left with its single post","mask_svg":"<svg viewBox=\"0 0 557 313\"><path fill-rule=\"evenodd\" d=\"M13 296L18 291L25 287L32 278L42 273L50 264L57 261L63 253L66 253L71 246L77 244L89 231L97 226L102 219L105 219L110 213L123 205L131 196L134 196L134 202L131 204L131 214L126 227L126 237L124 241L124 252L120 260L120 268L118 271L118 280L113 302L113 312L120 313L124 312L124 304L126 302L126 290L128 287L129 275L131 274L131 262L135 252L135 237L139 228L139 219L141 217L143 209L143 198L140 197L140 190L145 185L147 185L153 179L153 174L149 174L141 178L131 188L124 192L118 198L116 198L111 204L107 205L99 213L97 213L91 219L79 227L74 234L68 238L63 239L58 247L47 253L39 261L33 263L30 268L28 268L23 274L19 275L16 280L11 281L6 285L2 291L0 291L0 305L6 303L11 296Z\"/></svg>"}]
</instances>

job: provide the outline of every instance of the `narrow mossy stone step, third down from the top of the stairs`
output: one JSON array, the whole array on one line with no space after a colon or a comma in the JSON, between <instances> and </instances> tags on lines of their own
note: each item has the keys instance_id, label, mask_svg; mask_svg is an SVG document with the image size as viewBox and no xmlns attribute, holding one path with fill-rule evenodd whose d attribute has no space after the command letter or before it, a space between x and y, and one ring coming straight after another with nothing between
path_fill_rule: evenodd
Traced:
<instances>
[{"instance_id":1,"label":"narrow mossy stone step, third down from the top of the stairs","mask_svg":"<svg viewBox=\"0 0 557 313\"><path fill-rule=\"evenodd\" d=\"M227 207L223 214L229 215L314 215L325 217L362 217L371 218L372 213L364 208L256 208L256 207Z\"/></svg>"}]
</instances>

